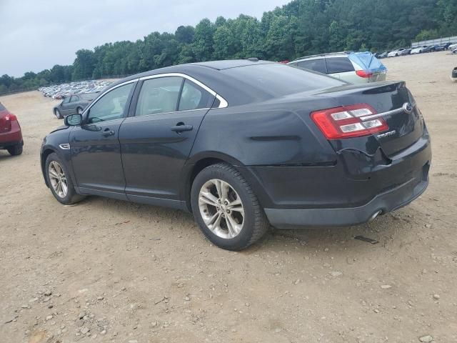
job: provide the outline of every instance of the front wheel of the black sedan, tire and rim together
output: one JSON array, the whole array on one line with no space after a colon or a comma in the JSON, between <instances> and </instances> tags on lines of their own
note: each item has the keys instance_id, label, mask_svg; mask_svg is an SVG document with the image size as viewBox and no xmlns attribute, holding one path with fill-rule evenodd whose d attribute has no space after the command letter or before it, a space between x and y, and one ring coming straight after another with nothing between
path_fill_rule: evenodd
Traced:
<instances>
[{"instance_id":1,"label":"front wheel of the black sedan, tire and rim together","mask_svg":"<svg viewBox=\"0 0 457 343\"><path fill-rule=\"evenodd\" d=\"M71 177L56 153L52 153L46 159L46 179L54 197L62 204L74 204L84 197L77 194Z\"/></svg>"}]
</instances>

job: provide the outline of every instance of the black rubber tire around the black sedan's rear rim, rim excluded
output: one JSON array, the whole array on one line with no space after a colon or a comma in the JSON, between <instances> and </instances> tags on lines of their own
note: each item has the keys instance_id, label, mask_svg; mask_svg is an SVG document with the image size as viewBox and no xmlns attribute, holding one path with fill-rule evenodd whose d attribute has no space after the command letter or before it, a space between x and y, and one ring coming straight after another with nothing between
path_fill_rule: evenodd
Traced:
<instances>
[{"instance_id":1,"label":"black rubber tire around the black sedan's rear rim, rim excluded","mask_svg":"<svg viewBox=\"0 0 457 343\"><path fill-rule=\"evenodd\" d=\"M201 187L211 179L220 179L229 183L243 203L243 228L236 237L231 239L221 238L214 234L214 232L206 226L201 217L199 209L200 190ZM222 249L233 251L246 249L251 244L257 242L258 239L261 239L270 226L265 212L263 212L261 205L258 203L256 194L254 194L251 186L241 174L229 164L213 164L203 169L196 176L191 189L191 205L195 220L197 224L199 224L201 231L213 244Z\"/></svg>"}]
</instances>

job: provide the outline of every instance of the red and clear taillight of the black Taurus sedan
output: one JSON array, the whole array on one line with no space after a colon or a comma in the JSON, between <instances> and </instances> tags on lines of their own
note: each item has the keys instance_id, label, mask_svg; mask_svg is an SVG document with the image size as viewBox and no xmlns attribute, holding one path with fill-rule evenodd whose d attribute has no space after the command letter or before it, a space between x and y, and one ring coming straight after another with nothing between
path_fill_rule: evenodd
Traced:
<instances>
[{"instance_id":1,"label":"red and clear taillight of the black Taurus sedan","mask_svg":"<svg viewBox=\"0 0 457 343\"><path fill-rule=\"evenodd\" d=\"M370 119L376 114L368 104L321 109L311 113L311 119L327 139L341 139L366 136L388 130L383 118Z\"/></svg>"}]
</instances>

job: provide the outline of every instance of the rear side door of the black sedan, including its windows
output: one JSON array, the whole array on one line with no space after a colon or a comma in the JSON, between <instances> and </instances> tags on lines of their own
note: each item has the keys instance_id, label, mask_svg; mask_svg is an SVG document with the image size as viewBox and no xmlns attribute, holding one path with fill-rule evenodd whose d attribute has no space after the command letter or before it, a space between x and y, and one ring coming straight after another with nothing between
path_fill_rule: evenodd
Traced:
<instances>
[{"instance_id":1,"label":"rear side door of the black sedan, including its windows","mask_svg":"<svg viewBox=\"0 0 457 343\"><path fill-rule=\"evenodd\" d=\"M137 98L136 106L119 131L126 194L132 201L181 206L181 170L216 95L202 86L183 76L141 82L132 101Z\"/></svg>"}]
</instances>

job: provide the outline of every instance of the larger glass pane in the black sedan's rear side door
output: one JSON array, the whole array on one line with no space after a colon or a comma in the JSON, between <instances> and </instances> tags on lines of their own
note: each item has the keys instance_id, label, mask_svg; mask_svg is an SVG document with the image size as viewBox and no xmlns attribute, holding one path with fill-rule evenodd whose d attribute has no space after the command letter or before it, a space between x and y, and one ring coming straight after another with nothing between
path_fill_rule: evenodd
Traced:
<instances>
[{"instance_id":1,"label":"larger glass pane in the black sedan's rear side door","mask_svg":"<svg viewBox=\"0 0 457 343\"><path fill-rule=\"evenodd\" d=\"M141 86L135 116L176 111L183 78L164 76L145 80Z\"/></svg>"}]
</instances>

